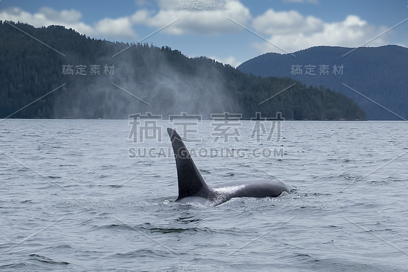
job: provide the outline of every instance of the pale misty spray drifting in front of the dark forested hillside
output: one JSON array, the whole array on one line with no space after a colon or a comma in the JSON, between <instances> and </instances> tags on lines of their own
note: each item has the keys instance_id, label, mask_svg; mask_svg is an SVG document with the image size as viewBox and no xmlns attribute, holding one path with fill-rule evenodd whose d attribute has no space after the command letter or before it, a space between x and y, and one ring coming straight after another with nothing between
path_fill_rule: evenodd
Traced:
<instances>
[{"instance_id":1,"label":"pale misty spray drifting in front of the dark forested hillside","mask_svg":"<svg viewBox=\"0 0 408 272\"><path fill-rule=\"evenodd\" d=\"M185 112L210 119L213 113L242 112L215 67L219 63L203 57L189 60L170 48L144 46L132 46L115 57L112 54L119 46L110 48L105 55L95 52L94 56L80 57L71 52L66 64L75 67L85 62L88 70L91 65L100 65L100 74L90 75L87 70L86 76L74 72L63 77L67 85L56 99L54 117L127 119L136 113L167 117ZM200 65L186 71L177 63L180 60ZM104 74L105 65L114 67L112 74Z\"/></svg>"}]
</instances>

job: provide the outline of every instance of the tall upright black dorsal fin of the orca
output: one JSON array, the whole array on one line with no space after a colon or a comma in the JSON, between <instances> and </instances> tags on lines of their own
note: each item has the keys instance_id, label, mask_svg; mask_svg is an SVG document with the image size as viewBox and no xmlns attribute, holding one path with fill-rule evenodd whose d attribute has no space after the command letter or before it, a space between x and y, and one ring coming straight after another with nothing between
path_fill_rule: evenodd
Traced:
<instances>
[{"instance_id":1,"label":"tall upright black dorsal fin of the orca","mask_svg":"<svg viewBox=\"0 0 408 272\"><path fill-rule=\"evenodd\" d=\"M179 198L177 200L193 196L209 198L210 188L195 166L179 133L169 127L167 132L173 146L177 179L179 180Z\"/></svg>"}]
</instances>

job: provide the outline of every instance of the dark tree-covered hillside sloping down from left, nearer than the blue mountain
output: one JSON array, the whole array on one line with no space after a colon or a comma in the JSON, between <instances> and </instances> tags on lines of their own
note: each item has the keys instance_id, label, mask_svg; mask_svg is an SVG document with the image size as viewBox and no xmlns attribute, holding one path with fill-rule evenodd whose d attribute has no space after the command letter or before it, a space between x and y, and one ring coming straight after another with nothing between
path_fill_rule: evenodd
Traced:
<instances>
[{"instance_id":1,"label":"dark tree-covered hillside sloping down from left, nearer than the blue mountain","mask_svg":"<svg viewBox=\"0 0 408 272\"><path fill-rule=\"evenodd\" d=\"M282 112L287 120L365 119L362 108L344 95L288 77L248 75L168 46L0 21L1 118L127 119L146 112L164 118L186 112L210 119L211 113L230 112L249 119L256 112L263 117Z\"/></svg>"}]
</instances>

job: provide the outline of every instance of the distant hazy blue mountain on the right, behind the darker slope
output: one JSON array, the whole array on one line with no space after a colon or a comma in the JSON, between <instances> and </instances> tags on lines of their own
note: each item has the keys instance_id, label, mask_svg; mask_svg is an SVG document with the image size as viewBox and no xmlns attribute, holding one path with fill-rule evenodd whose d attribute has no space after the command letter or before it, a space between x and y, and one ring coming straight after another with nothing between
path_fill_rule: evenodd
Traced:
<instances>
[{"instance_id":1,"label":"distant hazy blue mountain on the right, behind the darker slope","mask_svg":"<svg viewBox=\"0 0 408 272\"><path fill-rule=\"evenodd\" d=\"M368 120L408 119L408 48L387 45L351 50L317 46L294 52L294 56L266 53L237 69L262 77L287 76L308 86L341 92L364 109Z\"/></svg>"}]
</instances>

